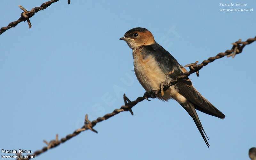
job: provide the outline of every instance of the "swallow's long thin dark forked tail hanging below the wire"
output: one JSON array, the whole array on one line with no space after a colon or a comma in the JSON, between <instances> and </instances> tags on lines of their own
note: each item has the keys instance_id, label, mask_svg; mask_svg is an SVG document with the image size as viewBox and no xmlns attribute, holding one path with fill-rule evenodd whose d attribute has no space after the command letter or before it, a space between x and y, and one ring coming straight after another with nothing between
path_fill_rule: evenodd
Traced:
<instances>
[{"instance_id":1,"label":"swallow's long thin dark forked tail hanging below the wire","mask_svg":"<svg viewBox=\"0 0 256 160\"><path fill-rule=\"evenodd\" d=\"M204 128L198 118L198 115L196 113L195 107L192 103L187 103L186 105L182 105L183 108L188 112L188 114L193 118L194 122L196 123L196 127L198 128L200 134L202 135L204 142L206 143L207 147L210 148L210 144L208 143L207 139L209 140L209 138L207 137L206 133L204 132ZM206 137L207 139L206 139Z\"/></svg>"}]
</instances>

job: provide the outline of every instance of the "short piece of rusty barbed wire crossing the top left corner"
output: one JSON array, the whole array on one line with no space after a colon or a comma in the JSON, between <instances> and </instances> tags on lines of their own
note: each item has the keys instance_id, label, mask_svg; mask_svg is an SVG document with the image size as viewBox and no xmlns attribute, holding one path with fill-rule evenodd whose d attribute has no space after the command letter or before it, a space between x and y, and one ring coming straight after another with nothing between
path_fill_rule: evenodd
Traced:
<instances>
[{"instance_id":1,"label":"short piece of rusty barbed wire crossing the top left corner","mask_svg":"<svg viewBox=\"0 0 256 160\"><path fill-rule=\"evenodd\" d=\"M33 17L36 12L44 10L45 8L49 7L52 3L55 3L57 1L59 1L59 0L51 0L51 1L45 2L40 7L32 8L31 11L27 11L24 7L22 7L21 5L18 5L20 7L20 9L23 10L24 12L22 12L20 14L20 18L18 20L9 23L9 25L7 25L6 27L2 27L0 29L0 35L2 33L4 33L6 30L8 30L10 28L13 28L16 25L18 25L20 22L24 22L24 21L27 21L28 22L28 27L31 28L32 25L30 23L29 18ZM68 0L68 4L70 4L70 0Z\"/></svg>"}]
</instances>

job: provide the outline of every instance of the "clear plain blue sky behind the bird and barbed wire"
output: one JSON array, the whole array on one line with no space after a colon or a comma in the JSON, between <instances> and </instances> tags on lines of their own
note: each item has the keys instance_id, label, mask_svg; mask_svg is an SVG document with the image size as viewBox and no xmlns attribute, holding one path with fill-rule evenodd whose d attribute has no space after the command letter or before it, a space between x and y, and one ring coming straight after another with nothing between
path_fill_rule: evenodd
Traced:
<instances>
[{"instance_id":1,"label":"clear plain blue sky behind the bird and barbed wire","mask_svg":"<svg viewBox=\"0 0 256 160\"><path fill-rule=\"evenodd\" d=\"M45 0L1 1L0 25ZM238 2L238 1L237 1ZM144 27L181 65L202 62L255 36L256 2L223 7L230 1L75 1L52 4L0 35L1 149L35 151L142 96L132 50L119 40ZM236 1L233 1L236 3ZM254 8L251 12L220 12ZM249 159L255 142L256 43L242 54L210 63L191 75L200 93L226 115L198 111L210 141L208 149L188 113L176 102L143 101L129 112L36 157L43 159ZM1 154L3 155L3 154Z\"/></svg>"}]
</instances>

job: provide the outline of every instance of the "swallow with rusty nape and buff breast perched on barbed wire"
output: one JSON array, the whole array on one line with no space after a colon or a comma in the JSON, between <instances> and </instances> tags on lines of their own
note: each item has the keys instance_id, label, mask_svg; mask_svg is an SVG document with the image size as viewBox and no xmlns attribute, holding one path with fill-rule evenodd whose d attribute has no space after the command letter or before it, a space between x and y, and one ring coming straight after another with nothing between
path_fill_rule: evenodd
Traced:
<instances>
[{"instance_id":1,"label":"swallow with rusty nape and buff breast perched on barbed wire","mask_svg":"<svg viewBox=\"0 0 256 160\"><path fill-rule=\"evenodd\" d=\"M124 40L132 49L133 66L135 75L142 87L150 93L159 90L162 82L169 83L187 70L154 39L153 34L146 28L136 27L130 29L119 40ZM188 77L179 80L176 84L164 91L164 95L157 94L156 98L168 101L176 100L192 117L196 127L210 148L204 128L198 118L196 110L224 119L214 105L204 98L192 85ZM207 139L206 139L207 137Z\"/></svg>"}]
</instances>

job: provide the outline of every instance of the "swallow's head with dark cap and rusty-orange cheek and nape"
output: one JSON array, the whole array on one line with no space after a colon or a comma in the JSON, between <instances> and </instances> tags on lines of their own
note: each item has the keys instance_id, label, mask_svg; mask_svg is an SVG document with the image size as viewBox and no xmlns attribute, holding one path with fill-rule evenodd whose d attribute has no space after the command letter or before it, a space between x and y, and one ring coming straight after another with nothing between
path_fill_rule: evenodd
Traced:
<instances>
[{"instance_id":1,"label":"swallow's head with dark cap and rusty-orange cheek and nape","mask_svg":"<svg viewBox=\"0 0 256 160\"><path fill-rule=\"evenodd\" d=\"M156 43L153 34L146 28L133 28L124 34L124 37L119 40L124 40L130 48L140 46L148 46Z\"/></svg>"}]
</instances>

